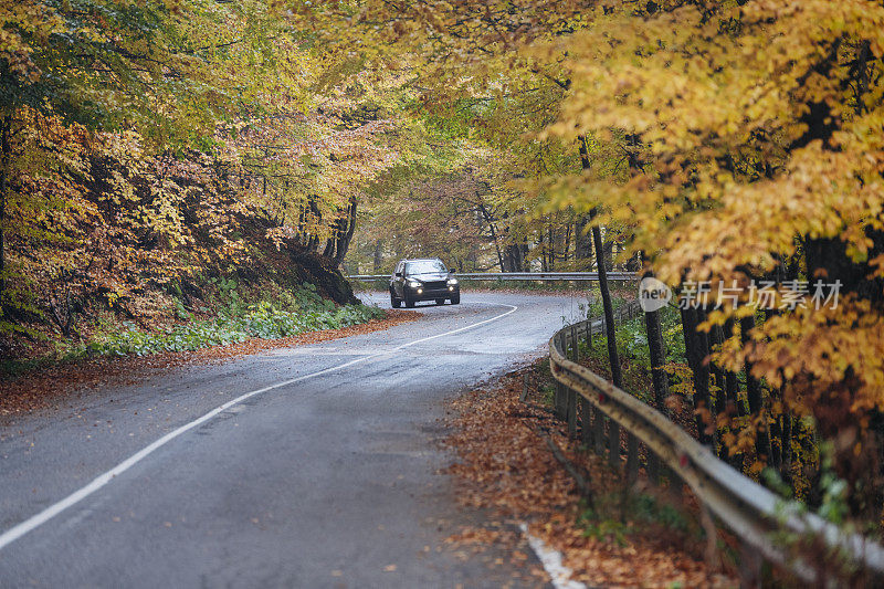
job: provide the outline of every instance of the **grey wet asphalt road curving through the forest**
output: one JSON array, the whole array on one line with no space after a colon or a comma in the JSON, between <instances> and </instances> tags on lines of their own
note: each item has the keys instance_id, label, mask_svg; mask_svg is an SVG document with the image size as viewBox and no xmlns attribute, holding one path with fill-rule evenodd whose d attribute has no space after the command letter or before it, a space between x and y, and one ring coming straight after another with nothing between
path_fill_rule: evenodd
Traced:
<instances>
[{"instance_id":1,"label":"grey wet asphalt road curving through the forest","mask_svg":"<svg viewBox=\"0 0 884 589\"><path fill-rule=\"evenodd\" d=\"M0 587L536 585L536 562L444 541L486 515L438 472L439 419L446 398L539 354L578 303L464 293L386 332L0 421Z\"/></svg>"}]
</instances>

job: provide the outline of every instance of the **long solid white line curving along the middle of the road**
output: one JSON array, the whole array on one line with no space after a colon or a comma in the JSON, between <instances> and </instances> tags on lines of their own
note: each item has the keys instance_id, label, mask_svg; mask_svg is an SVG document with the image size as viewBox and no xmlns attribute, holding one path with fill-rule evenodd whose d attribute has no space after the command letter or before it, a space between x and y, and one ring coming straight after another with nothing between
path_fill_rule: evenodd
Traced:
<instances>
[{"instance_id":1,"label":"long solid white line curving along the middle of the road","mask_svg":"<svg viewBox=\"0 0 884 589\"><path fill-rule=\"evenodd\" d=\"M269 390L278 389L280 387L286 387L288 385L294 385L296 382L301 382L302 380L306 380L308 378L314 378L314 377L318 377L318 376L323 376L323 375L328 375L330 372L337 372L338 370L343 370L344 368L348 368L348 367L354 366L356 364L364 362L364 361L367 361L367 360L371 360L371 359L378 358L380 356L387 356L387 355L392 354L392 353L394 353L397 350L400 350L400 349L403 349L403 348L408 348L408 347L414 346L417 344L422 344L423 341L429 341L431 339L436 339L436 338L440 338L440 337L445 337L445 336L450 336L450 335L454 335L454 334L460 334L461 332L465 332L467 329L472 329L474 327L478 327L480 325L485 325L485 324L488 324L491 322L497 320L497 319L499 319L502 317L506 317L507 315L518 311L518 307L515 306L515 305L506 305L506 304L498 304L498 303L488 303L488 304L492 304L492 305L495 305L495 306L502 306L502 307L509 307L509 311L507 311L506 313L502 313L501 315L495 315L491 319L485 319L485 320L481 320L481 322L477 322L477 323L473 323L473 324L470 324L470 325L467 325L465 327L460 327L457 329L452 329L451 332L445 332L444 334L436 334L434 336L422 337L420 339L415 339L414 341L409 341L408 344L402 344L400 346L396 346L394 348L391 348L391 349L388 349L388 350L385 350L385 351L378 351L378 353L371 354L369 356L364 356L361 358L356 358L355 360L350 360L350 361L347 361L347 362L344 362L344 364L340 364L340 365L337 365L337 366L333 366L330 368L325 368L323 370L317 370L316 372L311 372L309 375L302 375L299 377L290 378L288 380L283 380L281 382L276 382L275 385L271 385L271 386L264 387L262 389L253 390L251 392L246 392L244 395L241 395L241 396L236 397L235 399L231 399L230 401L225 402L224 404L212 409L211 411L209 411L204 416L194 419L190 423L186 423L185 425L181 425L177 430L170 431L169 433L167 433L166 435L164 435L159 440L155 441L150 445L144 448L143 450L140 450L140 451L136 452L135 454L133 454L131 456L129 456L128 459L124 460L123 462L120 462L119 464L117 464L116 466L114 466L113 469L107 471L106 473L96 476L86 486L81 487L80 490L75 491L74 493L71 493L70 495L67 495L66 497L64 497L60 502L57 502L57 503L55 503L53 505L50 505L49 507L46 507L45 509L43 509L39 514L29 517L28 519L25 519L21 524L18 524L17 526L11 527L7 532L4 532L2 535L0 535L0 550L2 550L3 548L9 546L10 544L15 541L17 539L21 538L22 536L24 536L29 532L35 529L36 527L41 526L42 524L45 524L46 522L49 522L50 519L52 519L53 517L55 517L56 515L59 515L63 511L67 509L69 507L73 506L73 505L76 505L77 503L80 503L84 498L88 497L90 495L92 495L93 493L95 493L96 491L102 488L104 485L109 483L115 476L125 473L126 471L128 471L129 469L131 469L133 466L138 464L140 461L143 461L144 459L149 456L156 450L158 450L159 448L162 448L164 445L166 445L170 441L175 440L176 438L178 438L182 433L192 430L197 425L200 425L200 424L209 421L210 419L212 419L217 414L221 413L222 411L225 411L225 410L230 409L233 406L240 404L241 402L245 401L246 399L250 399L251 397L254 397L255 395L261 395L262 392L267 392Z\"/></svg>"}]
</instances>

